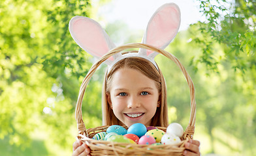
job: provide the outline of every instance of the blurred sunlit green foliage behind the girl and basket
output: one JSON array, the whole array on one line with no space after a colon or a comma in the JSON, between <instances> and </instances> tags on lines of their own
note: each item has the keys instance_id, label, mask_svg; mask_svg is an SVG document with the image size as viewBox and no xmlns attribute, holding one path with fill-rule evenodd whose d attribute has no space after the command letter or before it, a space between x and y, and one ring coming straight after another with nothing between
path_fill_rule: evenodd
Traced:
<instances>
[{"instance_id":1,"label":"blurred sunlit green foliage behind the girl and basket","mask_svg":"<svg viewBox=\"0 0 256 156\"><path fill-rule=\"evenodd\" d=\"M256 1L195 2L206 20L180 31L166 49L195 84L195 139L202 155L255 155ZM76 99L93 58L72 40L68 24L73 16L93 16L97 6L110 1L98 3L0 2L0 155L72 154ZM142 38L121 21L104 28L110 38L125 38L124 43ZM167 81L170 122L185 128L190 102L184 76L165 57L156 61ZM97 70L86 90L82 111L87 128L101 125L105 69Z\"/></svg>"}]
</instances>

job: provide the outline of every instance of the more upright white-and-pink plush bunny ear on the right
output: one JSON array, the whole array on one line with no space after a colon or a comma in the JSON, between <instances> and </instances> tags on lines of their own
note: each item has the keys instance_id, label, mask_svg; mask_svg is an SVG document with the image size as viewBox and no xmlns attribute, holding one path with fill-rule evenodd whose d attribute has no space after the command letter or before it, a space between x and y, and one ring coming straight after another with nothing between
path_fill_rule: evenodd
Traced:
<instances>
[{"instance_id":1,"label":"more upright white-and-pink plush bunny ear on the right","mask_svg":"<svg viewBox=\"0 0 256 156\"><path fill-rule=\"evenodd\" d=\"M142 39L142 44L149 44L165 49L178 33L180 27L180 8L174 3L167 3L153 14ZM140 49L140 55L154 58L158 53Z\"/></svg>"}]
</instances>

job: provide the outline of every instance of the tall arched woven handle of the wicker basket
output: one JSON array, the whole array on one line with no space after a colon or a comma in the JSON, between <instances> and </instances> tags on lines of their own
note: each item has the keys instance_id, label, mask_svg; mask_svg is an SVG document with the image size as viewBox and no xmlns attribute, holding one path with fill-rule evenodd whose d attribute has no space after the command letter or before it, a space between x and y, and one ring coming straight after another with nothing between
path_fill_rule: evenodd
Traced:
<instances>
[{"instance_id":1,"label":"tall arched woven handle of the wicker basket","mask_svg":"<svg viewBox=\"0 0 256 156\"><path fill-rule=\"evenodd\" d=\"M147 44L139 44L139 43L133 43L133 44L125 44L121 45L119 47L116 47L112 50L110 50L108 53L106 53L101 59L99 59L93 66L91 66L91 69L87 73L86 77L84 78L84 81L82 82L82 85L80 86L80 91L78 94L78 100L76 102L76 110L75 110L75 118L77 122L78 127L78 133L81 135L88 136L86 132L86 125L84 124L84 121L82 119L82 100L84 98L84 92L86 91L86 87L89 83L89 80L91 79L93 73L97 70L97 68L109 57L116 53L120 53L120 51L123 51L125 49L131 49L131 48L143 48L143 49L149 49L151 51L156 51L157 53L161 53L168 59L172 60L179 68L182 70L182 73L184 74L184 77L187 81L187 84L189 86L189 92L190 92L190 101L191 101L191 113L190 113L190 119L189 124L187 125L187 128L185 129L184 133L184 139L189 137L193 138L194 131L195 131L195 113L196 113L196 102L195 102L195 87L193 84L193 81L191 80L191 77L185 70L184 66L178 60L174 55L168 53L167 51L164 51L163 49L159 49L157 47L153 47L151 45Z\"/></svg>"}]
</instances>

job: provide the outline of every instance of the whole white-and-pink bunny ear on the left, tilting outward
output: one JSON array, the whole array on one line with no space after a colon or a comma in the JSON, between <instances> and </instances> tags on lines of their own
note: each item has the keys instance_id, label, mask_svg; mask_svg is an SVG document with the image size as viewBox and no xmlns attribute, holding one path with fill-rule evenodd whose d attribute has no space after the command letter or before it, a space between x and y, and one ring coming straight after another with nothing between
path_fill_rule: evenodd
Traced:
<instances>
[{"instance_id":1,"label":"whole white-and-pink bunny ear on the left, tilting outward","mask_svg":"<svg viewBox=\"0 0 256 156\"><path fill-rule=\"evenodd\" d=\"M93 19L75 16L69 21L69 31L76 44L97 59L116 47L101 25ZM110 57L105 63L111 64L115 57Z\"/></svg>"}]
</instances>

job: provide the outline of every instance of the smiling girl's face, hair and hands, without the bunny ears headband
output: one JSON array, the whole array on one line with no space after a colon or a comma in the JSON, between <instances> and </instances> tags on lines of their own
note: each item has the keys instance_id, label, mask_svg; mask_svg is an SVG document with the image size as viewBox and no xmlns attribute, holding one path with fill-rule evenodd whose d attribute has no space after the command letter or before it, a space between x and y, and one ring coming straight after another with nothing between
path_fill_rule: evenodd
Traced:
<instances>
[{"instance_id":1,"label":"smiling girl's face, hair and hands, without the bunny ears headband","mask_svg":"<svg viewBox=\"0 0 256 156\"><path fill-rule=\"evenodd\" d=\"M129 57L114 64L103 88L104 125L143 123L167 127L166 85L161 70L148 60ZM199 142L185 144L184 155L199 155ZM89 155L86 144L76 141L73 155Z\"/></svg>"}]
</instances>

